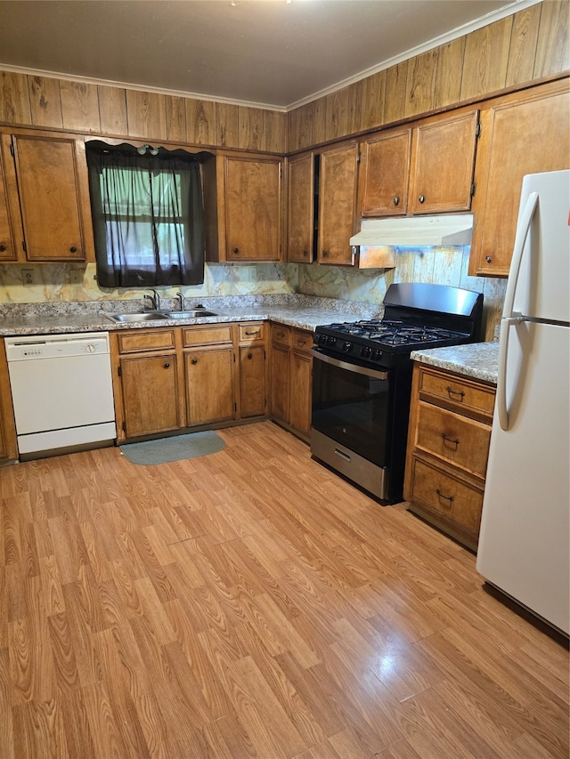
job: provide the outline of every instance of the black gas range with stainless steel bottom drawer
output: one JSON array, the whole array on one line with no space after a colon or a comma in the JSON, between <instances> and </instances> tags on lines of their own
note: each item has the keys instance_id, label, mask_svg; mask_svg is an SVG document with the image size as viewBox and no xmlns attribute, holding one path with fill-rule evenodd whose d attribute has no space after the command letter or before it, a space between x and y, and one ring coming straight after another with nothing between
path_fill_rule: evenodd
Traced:
<instances>
[{"instance_id":1,"label":"black gas range with stainless steel bottom drawer","mask_svg":"<svg viewBox=\"0 0 570 759\"><path fill-rule=\"evenodd\" d=\"M480 339L483 295L425 283L391 285L384 318L314 331L313 456L384 504L402 500L411 351Z\"/></svg>"}]
</instances>

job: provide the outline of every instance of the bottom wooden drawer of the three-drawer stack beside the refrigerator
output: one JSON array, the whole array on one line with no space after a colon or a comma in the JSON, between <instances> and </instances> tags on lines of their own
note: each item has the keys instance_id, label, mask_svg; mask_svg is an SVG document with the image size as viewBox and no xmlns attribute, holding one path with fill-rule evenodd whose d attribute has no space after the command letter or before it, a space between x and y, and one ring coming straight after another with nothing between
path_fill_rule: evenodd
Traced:
<instances>
[{"instance_id":1,"label":"bottom wooden drawer of the three-drawer stack beside the refrigerator","mask_svg":"<svg viewBox=\"0 0 570 759\"><path fill-rule=\"evenodd\" d=\"M483 508L483 489L469 485L418 456L412 456L411 466L411 511L425 515L424 507L447 523L454 523L458 531L467 529L476 538Z\"/></svg>"}]
</instances>

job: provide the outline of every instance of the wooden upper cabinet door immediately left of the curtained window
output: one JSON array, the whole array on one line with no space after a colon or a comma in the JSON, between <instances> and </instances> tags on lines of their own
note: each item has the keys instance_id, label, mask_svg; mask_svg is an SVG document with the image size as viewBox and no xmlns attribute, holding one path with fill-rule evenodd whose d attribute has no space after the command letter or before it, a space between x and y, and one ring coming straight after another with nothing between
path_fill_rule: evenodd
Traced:
<instances>
[{"instance_id":1,"label":"wooden upper cabinet door immediately left of the curtained window","mask_svg":"<svg viewBox=\"0 0 570 759\"><path fill-rule=\"evenodd\" d=\"M17 134L12 149L28 261L85 260L75 138Z\"/></svg>"}]
</instances>

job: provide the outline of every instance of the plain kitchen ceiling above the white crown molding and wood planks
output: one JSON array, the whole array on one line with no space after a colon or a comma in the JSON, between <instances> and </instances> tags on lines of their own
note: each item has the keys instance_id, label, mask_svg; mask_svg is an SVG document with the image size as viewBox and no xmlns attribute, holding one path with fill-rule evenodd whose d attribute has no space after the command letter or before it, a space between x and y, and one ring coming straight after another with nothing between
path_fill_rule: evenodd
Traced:
<instances>
[{"instance_id":1,"label":"plain kitchen ceiling above the white crown molding and wood planks","mask_svg":"<svg viewBox=\"0 0 570 759\"><path fill-rule=\"evenodd\" d=\"M534 2L0 0L0 69L288 109Z\"/></svg>"}]
</instances>

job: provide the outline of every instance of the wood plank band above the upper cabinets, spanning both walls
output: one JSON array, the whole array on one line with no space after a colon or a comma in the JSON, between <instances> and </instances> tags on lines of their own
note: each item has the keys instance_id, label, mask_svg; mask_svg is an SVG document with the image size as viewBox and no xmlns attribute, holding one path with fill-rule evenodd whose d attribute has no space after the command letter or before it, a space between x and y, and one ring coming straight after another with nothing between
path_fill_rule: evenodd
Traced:
<instances>
[{"instance_id":1,"label":"wood plank band above the upper cabinets, spanning both walls","mask_svg":"<svg viewBox=\"0 0 570 759\"><path fill-rule=\"evenodd\" d=\"M570 69L569 7L533 5L289 114L0 71L0 123L294 152Z\"/></svg>"}]
</instances>

